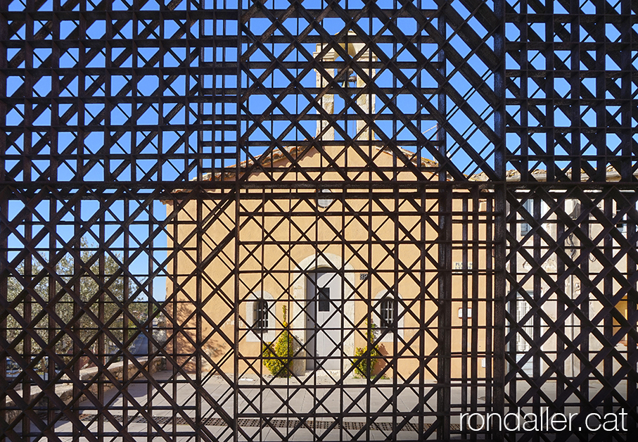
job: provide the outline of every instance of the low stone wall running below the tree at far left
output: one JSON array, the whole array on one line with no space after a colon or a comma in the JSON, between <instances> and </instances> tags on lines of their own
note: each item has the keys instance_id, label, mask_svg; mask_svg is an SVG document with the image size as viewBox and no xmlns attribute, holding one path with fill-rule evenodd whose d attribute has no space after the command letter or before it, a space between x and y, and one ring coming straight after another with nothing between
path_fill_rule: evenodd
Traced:
<instances>
[{"instance_id":1,"label":"low stone wall running below the tree at far left","mask_svg":"<svg viewBox=\"0 0 638 442\"><path fill-rule=\"evenodd\" d=\"M143 365L144 363L146 363L146 361L148 360L148 358L139 358L138 362L141 363L141 365ZM161 365L162 365L163 358L155 358L155 360L153 360L153 362L151 363L151 374L158 372L161 370ZM137 367L135 365L132 364L132 362L129 362L129 379L131 377L134 377L139 371L137 370ZM115 378L117 380L122 380L122 368L124 367L124 361L122 362L115 362L111 365L109 365L108 367L108 371L113 374L113 376L115 376ZM79 371L79 379L82 381L89 381L90 379L93 379L96 374L98 373L98 367L89 367L89 368L84 368L82 370ZM65 403L65 405L68 405L70 403L70 401L72 400L72 396L73 396L73 385L70 384L70 382L68 381L68 377L63 377L63 379L67 379L67 381L65 381L65 384L57 384L55 386L55 393L56 396L58 398L60 398L60 400L63 401L63 403ZM114 388L114 387L111 387ZM89 391L91 391L91 393L97 394L98 393L98 384L91 384L91 386L89 387ZM15 389L15 392L18 393L18 395L23 396L22 395L22 389ZM37 398L37 396L42 393L42 390L39 388L39 386L32 386L31 387L31 394L30 394L30 398L23 398L23 400L25 400L26 403L32 405L31 403ZM46 398L46 396L45 396ZM86 398L84 398L86 399ZM84 399L80 399L79 402L81 402ZM6 398L6 408L11 408L11 407L15 407L15 403L13 402L13 400L7 396ZM6 421L11 424L11 422L13 422L14 419L18 418L18 416L20 415L20 413L22 412L22 410L7 410L6 412Z\"/></svg>"}]
</instances>

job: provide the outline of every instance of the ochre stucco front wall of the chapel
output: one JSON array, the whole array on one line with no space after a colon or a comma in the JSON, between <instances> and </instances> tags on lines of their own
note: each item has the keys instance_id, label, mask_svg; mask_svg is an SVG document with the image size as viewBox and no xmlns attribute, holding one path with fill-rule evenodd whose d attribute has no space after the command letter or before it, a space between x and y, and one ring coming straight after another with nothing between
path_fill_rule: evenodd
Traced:
<instances>
[{"instance_id":1,"label":"ochre stucco front wall of the chapel","mask_svg":"<svg viewBox=\"0 0 638 442\"><path fill-rule=\"evenodd\" d=\"M334 152L331 152L334 151ZM326 147L328 155L338 158L337 151L342 148ZM376 151L376 149L375 149ZM393 156L388 153L375 152L374 165L389 177L393 169ZM296 153L295 153L296 154ZM378 172L352 172L356 168L370 170L369 166L359 158L351 154L350 158L340 156L339 165L345 165L347 160L350 176L367 182L371 179L381 178ZM273 164L274 168L286 170L288 161L279 160ZM306 170L312 177L323 170L324 182L340 182L342 177L336 171L326 168L326 160L319 153L311 153L299 161L300 168ZM273 173L272 177L266 177L263 172L257 172L250 176L251 181L277 179L280 173ZM398 180L414 181L412 172L397 174ZM283 177L286 180L303 182L304 177L300 172L288 174ZM330 186L328 186L330 187ZM335 194L340 194L343 189L338 185L332 187ZM304 343L306 336L303 330L305 316L300 304L295 304L294 299L304 296L300 291L300 284L305 281L302 270L311 270L314 267L326 268L328 265L338 271L345 272L344 294L347 297L345 305L344 329L345 352L350 353L354 348L365 346L366 325L364 318L369 315L371 305L378 302L379 293L387 286L397 287L398 293L405 305L411 306L410 311L404 315L402 338L393 337L381 343L381 352L384 355L400 354L400 358L392 368L397 368L402 376L407 377L414 370L419 370L419 361L422 355L436 355L437 343L432 337L438 335L438 318L436 317L438 297L438 272L435 267L438 259L438 248L435 241L438 239L435 232L437 224L438 191L424 191L423 194L413 194L410 200L405 198L393 199L392 194L382 188L378 192L385 192L388 198L375 199L350 197L352 193L360 193L357 189L345 190L345 203L335 201L329 208L317 208L315 189L298 189L298 194L307 195L304 201L295 195L288 198L288 190L250 191L248 193L262 196L263 198L251 199L250 195L242 195L239 207L236 208L234 199L229 202L219 203L222 191L212 191L208 194L200 194L193 198L177 213L174 223L175 242L180 244L179 254L174 260L172 274L181 286L176 286L171 279L167 284L167 296L177 293L176 302L172 314L177 324L183 324L184 331L179 331L174 336L175 350L181 353L180 361L186 362L186 370L196 370L193 343L203 342L202 351L208 355L215 364L219 364L218 370L223 372L234 371L233 351L241 354L239 370L246 375L255 372L267 374L267 370L260 366L258 360L261 352L259 342L250 342L246 330L245 320L247 308L252 308L251 293L267 292L276 301L276 320L278 327L282 320L283 305L288 305L293 334ZM271 196L272 198L269 198ZM377 194L378 195L378 194ZM375 196L376 198L376 196ZM470 201L472 203L472 201ZM179 203L178 203L179 204ZM460 202L458 203L460 204ZM459 212L461 207L455 202L454 212ZM174 215L174 203L167 202L167 214ZM238 210L239 213L236 213ZM472 208L471 208L472 210ZM421 216L425 213L424 216ZM286 219L290 214L291 219ZM356 216L353 216L356 214ZM238 256L235 256L235 242L230 239L238 216L238 239L241 246ZM202 232L193 234L196 225L203 227ZM458 225L453 227L453 234L461 237ZM424 238L422 235L424 234ZM187 239L191 236L190 239ZM484 227L469 232L470 239L480 239L485 236ZM369 243L371 240L371 243ZM415 242L416 240L416 242ZM423 240L423 241L422 241ZM198 250L198 244L200 248ZM223 244L223 246L222 246ZM169 239L168 249L172 250L174 241ZM317 250L321 253L317 253ZM423 250L431 257L423 255ZM215 253L213 253L215 251ZM479 260L485 258L485 247L480 251ZM288 256L290 258L288 258ZM454 251L452 260L461 261L461 251ZM470 259L471 260L471 259ZM205 263L201 270L196 272L196 263ZM237 262L237 265L235 265ZM302 264L305 263L305 264ZM310 267L309 267L310 266ZM421 268L426 272L420 272ZM475 268L480 268L480 263L474 263ZM238 272L238 279L234 272ZM360 279L360 274L369 274L367 279ZM462 273L462 274L461 274ZM464 298L463 286L469 283L470 294L465 297L485 299L485 288L489 285L485 282L486 276L475 276L468 272L460 272L452 277L452 291L454 299ZM483 272L484 273L484 272ZM236 286L238 284L238 286ZM296 293L295 293L296 291ZM301 295L300 295L301 293ZM198 301L203 314L196 314ZM477 301L473 316L468 319L470 330L465 334L459 330L452 330L452 351L455 353L453 377L461 376L461 358L464 358L464 337L469 336L468 350L471 349L471 333L478 335L478 351L484 348L485 330L478 330L478 325L485 324L484 303ZM238 310L234 310L238 305ZM452 312L452 327L460 327L462 320L457 317L458 308L468 305L458 301L454 303ZM193 314L195 312L195 314ZM236 314L240 318L238 346L235 341ZM483 319L481 319L483 318ZM171 318L170 318L171 319ZM347 321L346 321L347 320ZM374 316L373 316L374 320ZM201 336L196 336L197 322L201 325ZM355 331L348 325L348 321L355 323ZM378 324L378 319L375 321ZM472 331L472 324L476 330ZM431 332L428 333L428 329ZM415 334L419 336L414 337ZM190 337L190 339L189 339ZM470 346L470 348L468 348ZM301 353L303 354L303 353ZM352 355L352 354L349 354ZM467 361L466 361L467 362ZM385 365L381 362L379 369ZM425 370L426 377L437 370L437 360L432 358ZM250 367L250 368L249 368ZM345 368L349 368L346 364ZM203 363L203 370L211 370L212 366ZM295 364L295 371L305 370L303 363ZM478 367L480 374L484 373L483 367ZM392 370L386 372L392 376Z\"/></svg>"}]
</instances>

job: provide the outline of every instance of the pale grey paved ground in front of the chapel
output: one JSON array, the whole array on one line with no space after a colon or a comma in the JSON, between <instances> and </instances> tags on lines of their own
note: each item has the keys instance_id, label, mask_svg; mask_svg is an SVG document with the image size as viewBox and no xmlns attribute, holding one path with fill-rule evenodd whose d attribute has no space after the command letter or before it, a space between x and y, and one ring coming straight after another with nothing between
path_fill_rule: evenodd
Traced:
<instances>
[{"instance_id":1,"label":"pale grey paved ground in front of the chapel","mask_svg":"<svg viewBox=\"0 0 638 442\"><path fill-rule=\"evenodd\" d=\"M233 441L235 436L240 441L414 441L419 440L419 428L428 431L437 412L436 384L381 379L366 388L365 379L345 379L335 389L336 380L326 375L261 382L244 377L235 390L220 376L208 377L203 389L167 371L155 373L153 379L156 386L141 380L129 385L126 393L108 391L103 422L98 423L98 410L85 400L79 405L82 424L92 434L100 431L108 436L104 440L113 441L126 440L120 434L125 421L128 436L139 441ZM518 395L525 391L521 383ZM544 393L549 400L556 397L551 388ZM596 389L590 391L592 396L595 393ZM469 398L471 392L455 387L451 394L452 403L461 403L461 395ZM477 394L480 407L485 403L484 390ZM458 424L459 416L452 412L452 429L459 429ZM55 431L63 440L91 440L91 434L74 438L68 418L60 419ZM435 432L430 439L435 440Z\"/></svg>"}]
</instances>

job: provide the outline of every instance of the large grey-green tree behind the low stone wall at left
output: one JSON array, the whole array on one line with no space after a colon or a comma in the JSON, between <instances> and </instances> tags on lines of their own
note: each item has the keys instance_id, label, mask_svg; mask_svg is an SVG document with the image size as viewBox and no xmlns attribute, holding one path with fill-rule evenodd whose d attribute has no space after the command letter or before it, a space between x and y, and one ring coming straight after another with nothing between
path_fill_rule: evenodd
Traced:
<instances>
[{"instance_id":1,"label":"large grey-green tree behind the low stone wall at left","mask_svg":"<svg viewBox=\"0 0 638 442\"><path fill-rule=\"evenodd\" d=\"M95 253L104 255L95 259ZM40 353L42 365L42 345L54 343L56 353L68 359L75 352L97 353L97 336L103 333L105 353L121 347L125 328L121 306L125 296L133 295L134 282L127 281L129 290L125 293L125 277L116 258L120 260L117 255L113 258L96 252L83 239L76 255L67 253L54 265L34 259L28 272L21 263L7 281L6 337L10 346L23 354L28 342L30 354ZM49 290L50 284L54 284L53 290ZM25 333L25 328L39 339Z\"/></svg>"}]
</instances>

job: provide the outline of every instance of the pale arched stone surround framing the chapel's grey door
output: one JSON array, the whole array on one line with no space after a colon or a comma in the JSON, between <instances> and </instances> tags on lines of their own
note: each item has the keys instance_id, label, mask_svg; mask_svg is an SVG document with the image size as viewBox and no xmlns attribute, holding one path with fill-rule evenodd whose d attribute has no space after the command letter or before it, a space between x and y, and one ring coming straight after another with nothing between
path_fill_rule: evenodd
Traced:
<instances>
[{"instance_id":1,"label":"pale arched stone surround framing the chapel's grey door","mask_svg":"<svg viewBox=\"0 0 638 442\"><path fill-rule=\"evenodd\" d=\"M310 255L307 258L300 261L298 267L293 270L293 303L291 327L293 336L295 336L300 343L306 342L306 313L302 310L301 306L306 302L306 289L308 278L302 272L309 272L315 269L332 269L332 270L347 270L345 273L346 281L343 282L343 315L344 317L355 319L355 301L352 300L352 287L355 286L355 267L350 264L343 264L343 260L338 255L333 253L323 253L321 255ZM344 330L344 334L347 335L350 330ZM355 335L349 334L343 342L344 358L355 355ZM293 361L293 372L298 375L305 374L306 371L306 353L300 352L300 358L295 358Z\"/></svg>"}]
</instances>

